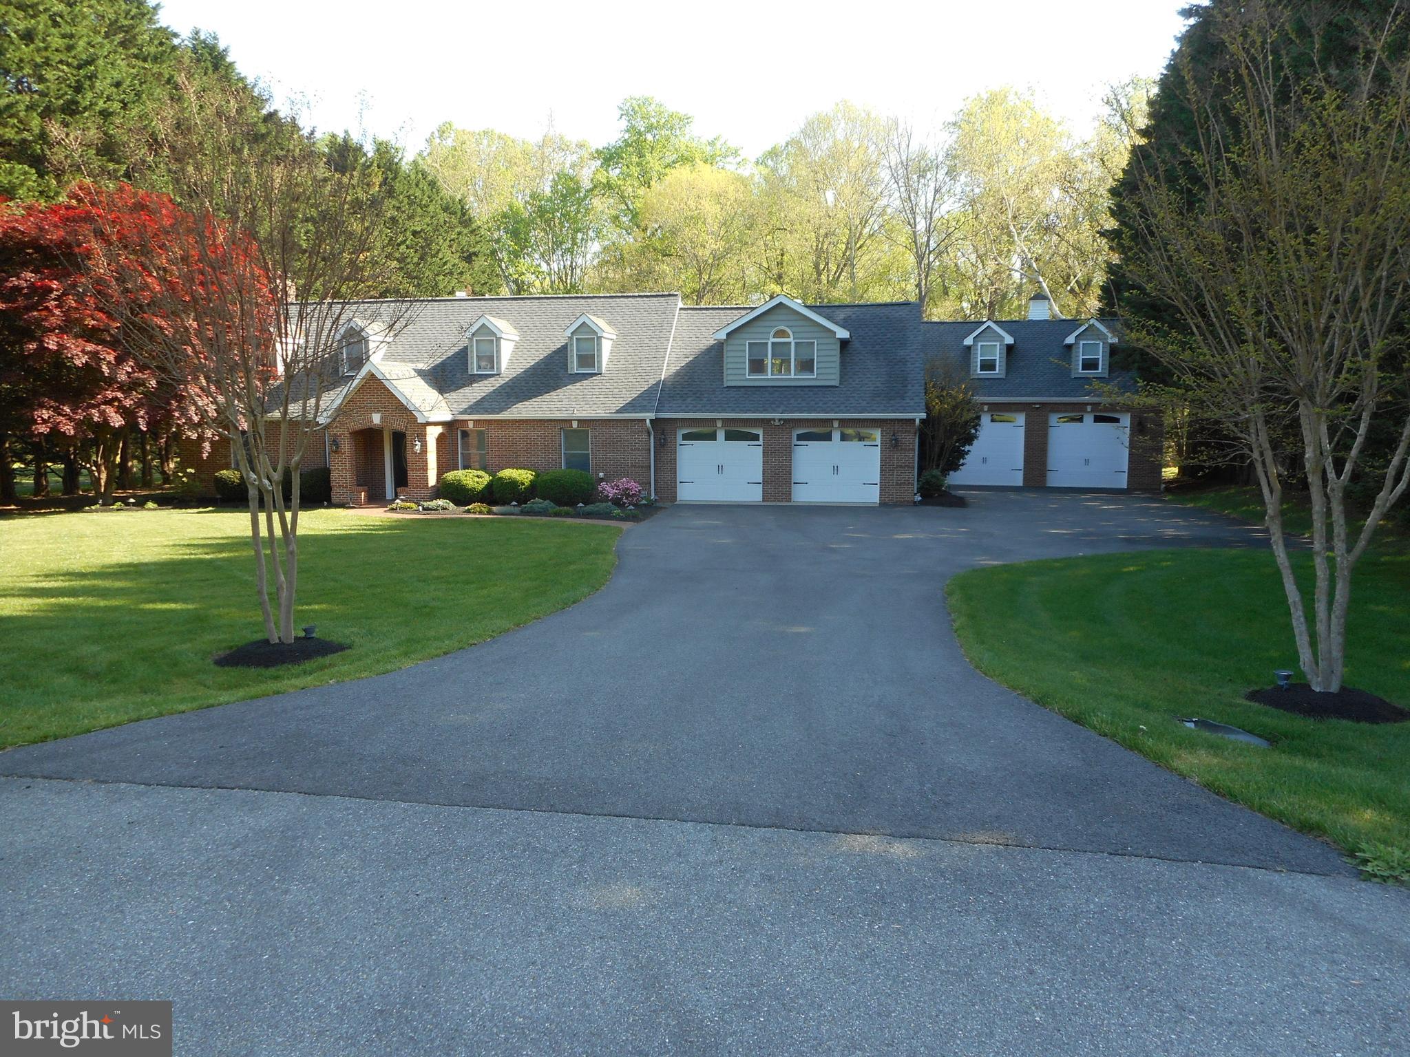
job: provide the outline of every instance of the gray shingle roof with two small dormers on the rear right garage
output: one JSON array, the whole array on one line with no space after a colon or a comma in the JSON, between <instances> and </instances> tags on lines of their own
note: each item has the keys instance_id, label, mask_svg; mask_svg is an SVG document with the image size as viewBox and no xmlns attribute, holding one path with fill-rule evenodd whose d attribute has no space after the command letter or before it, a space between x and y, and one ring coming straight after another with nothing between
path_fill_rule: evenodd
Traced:
<instances>
[{"instance_id":1,"label":"gray shingle roof with two small dormers on the rear right garage","mask_svg":"<svg viewBox=\"0 0 1410 1057\"><path fill-rule=\"evenodd\" d=\"M1105 378L1073 378L1072 347L1063 341L1086 320L994 320L1008 334L1014 344L1008 347L1008 362L1004 378L973 378L976 395L981 399L1091 399L1091 383L1120 385L1135 390L1135 376L1129 371L1108 371ZM1120 334L1117 321L1104 319L1107 330ZM980 324L925 323L926 358L933 355L953 359L959 369L969 375L970 350L967 338Z\"/></svg>"}]
</instances>

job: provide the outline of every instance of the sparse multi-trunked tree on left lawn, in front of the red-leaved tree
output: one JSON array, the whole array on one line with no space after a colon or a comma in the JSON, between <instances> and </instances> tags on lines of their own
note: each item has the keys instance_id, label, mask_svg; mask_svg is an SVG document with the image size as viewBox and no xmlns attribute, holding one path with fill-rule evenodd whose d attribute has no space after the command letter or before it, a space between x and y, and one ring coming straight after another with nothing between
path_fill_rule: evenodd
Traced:
<instances>
[{"instance_id":1,"label":"sparse multi-trunked tree on left lawn, in front of the red-leaved tree","mask_svg":"<svg viewBox=\"0 0 1410 1057\"><path fill-rule=\"evenodd\" d=\"M364 357L412 311L354 300L392 282L386 187L369 155L333 166L296 121L241 92L190 85L151 125L137 154L161 159L149 178L169 199L80 187L96 216L93 289L133 355L185 388L199 430L230 441L265 636L290 643L299 469L336 410L344 345ZM145 223L120 227L133 209Z\"/></svg>"}]
</instances>

